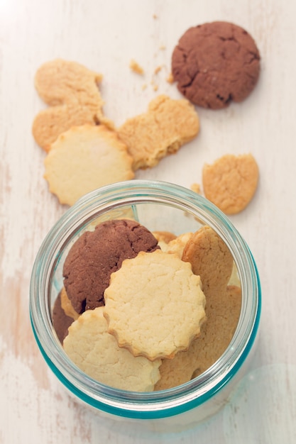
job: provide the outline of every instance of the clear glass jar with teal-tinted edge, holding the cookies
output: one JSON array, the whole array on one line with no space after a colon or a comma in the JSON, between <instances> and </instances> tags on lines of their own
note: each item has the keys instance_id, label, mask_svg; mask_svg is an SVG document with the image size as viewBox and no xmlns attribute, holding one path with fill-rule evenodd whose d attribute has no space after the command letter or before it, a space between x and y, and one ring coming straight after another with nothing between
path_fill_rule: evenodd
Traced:
<instances>
[{"instance_id":1,"label":"clear glass jar with teal-tinted edge, holding the cookies","mask_svg":"<svg viewBox=\"0 0 296 444\"><path fill-rule=\"evenodd\" d=\"M126 392L80 371L65 354L53 328L53 304L62 289L62 266L77 238L111 218L134 218L150 231L175 235L210 226L229 247L239 277L241 315L223 355L186 384L159 392ZM82 197L48 233L31 277L30 313L35 340L56 377L84 404L111 419L175 431L212 416L226 403L251 360L261 311L261 289L250 250L228 218L202 196L166 182L132 180Z\"/></svg>"}]
</instances>

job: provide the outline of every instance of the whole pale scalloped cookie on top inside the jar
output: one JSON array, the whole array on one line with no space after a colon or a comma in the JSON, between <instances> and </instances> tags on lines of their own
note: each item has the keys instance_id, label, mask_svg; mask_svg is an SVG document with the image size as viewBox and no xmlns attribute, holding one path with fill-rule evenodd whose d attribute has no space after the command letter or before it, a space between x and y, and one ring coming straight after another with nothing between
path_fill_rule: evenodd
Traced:
<instances>
[{"instance_id":1,"label":"whole pale scalloped cookie on top inside the jar","mask_svg":"<svg viewBox=\"0 0 296 444\"><path fill-rule=\"evenodd\" d=\"M124 260L104 299L109 333L119 346L150 360L186 350L205 317L200 278L189 263L161 250Z\"/></svg>"}]
</instances>

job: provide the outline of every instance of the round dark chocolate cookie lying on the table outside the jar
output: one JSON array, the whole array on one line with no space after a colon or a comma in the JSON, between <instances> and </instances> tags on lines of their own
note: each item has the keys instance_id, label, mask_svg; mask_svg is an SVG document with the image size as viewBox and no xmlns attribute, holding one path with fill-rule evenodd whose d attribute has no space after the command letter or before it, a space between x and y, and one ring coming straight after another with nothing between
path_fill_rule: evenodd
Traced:
<instances>
[{"instance_id":1,"label":"round dark chocolate cookie lying on the table outside the jar","mask_svg":"<svg viewBox=\"0 0 296 444\"><path fill-rule=\"evenodd\" d=\"M240 26L224 21L189 28L172 52L172 77L193 104L221 109L246 99L256 85L260 55Z\"/></svg>"}]
</instances>

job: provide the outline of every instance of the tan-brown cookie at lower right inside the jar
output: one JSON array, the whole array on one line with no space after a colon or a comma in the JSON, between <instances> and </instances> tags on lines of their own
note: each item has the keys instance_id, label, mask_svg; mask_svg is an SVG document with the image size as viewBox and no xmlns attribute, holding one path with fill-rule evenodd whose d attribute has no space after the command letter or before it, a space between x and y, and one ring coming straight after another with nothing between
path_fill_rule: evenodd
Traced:
<instances>
[{"instance_id":1,"label":"tan-brown cookie at lower right inside the jar","mask_svg":"<svg viewBox=\"0 0 296 444\"><path fill-rule=\"evenodd\" d=\"M206 371L228 347L241 313L241 289L229 286L216 294L206 306L207 321L190 348L160 365L160 380L155 390L164 390L188 382Z\"/></svg>"}]
</instances>

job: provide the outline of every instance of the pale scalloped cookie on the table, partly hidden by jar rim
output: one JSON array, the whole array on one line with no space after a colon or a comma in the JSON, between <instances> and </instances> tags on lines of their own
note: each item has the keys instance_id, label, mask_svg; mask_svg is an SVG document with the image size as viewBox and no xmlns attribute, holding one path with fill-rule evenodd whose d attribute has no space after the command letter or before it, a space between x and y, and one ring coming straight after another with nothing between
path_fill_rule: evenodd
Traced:
<instances>
[{"instance_id":1,"label":"pale scalloped cookie on the table, partly hidden by jar rim","mask_svg":"<svg viewBox=\"0 0 296 444\"><path fill-rule=\"evenodd\" d=\"M67 205L103 185L134 177L126 145L104 126L77 126L62 133L44 163L50 192Z\"/></svg>"}]
</instances>

